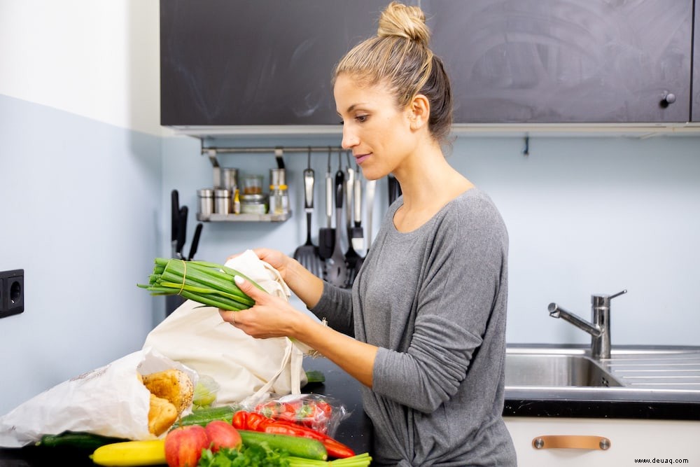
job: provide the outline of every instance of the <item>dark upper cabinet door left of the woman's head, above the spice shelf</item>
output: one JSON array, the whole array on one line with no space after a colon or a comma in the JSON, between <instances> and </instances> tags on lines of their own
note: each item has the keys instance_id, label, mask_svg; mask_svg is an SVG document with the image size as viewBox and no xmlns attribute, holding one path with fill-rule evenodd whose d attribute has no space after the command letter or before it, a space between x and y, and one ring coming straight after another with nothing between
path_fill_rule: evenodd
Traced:
<instances>
[{"instance_id":1,"label":"dark upper cabinet door left of the woman's head, above the spice shelf","mask_svg":"<svg viewBox=\"0 0 700 467\"><path fill-rule=\"evenodd\" d=\"M161 0L161 124L338 124L333 67L387 3Z\"/></svg>"}]
</instances>

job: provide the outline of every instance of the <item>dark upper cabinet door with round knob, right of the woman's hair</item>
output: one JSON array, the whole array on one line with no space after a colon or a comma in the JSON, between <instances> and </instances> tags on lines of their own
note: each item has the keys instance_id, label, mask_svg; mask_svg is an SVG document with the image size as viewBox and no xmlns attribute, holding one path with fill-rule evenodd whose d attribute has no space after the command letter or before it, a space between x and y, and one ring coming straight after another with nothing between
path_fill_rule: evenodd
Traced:
<instances>
[{"instance_id":1,"label":"dark upper cabinet door with round knob, right of the woman's hair","mask_svg":"<svg viewBox=\"0 0 700 467\"><path fill-rule=\"evenodd\" d=\"M423 0L421 5L433 29L433 48L451 76L458 123L690 118L693 0ZM675 102L666 105L668 94Z\"/></svg>"}]
</instances>

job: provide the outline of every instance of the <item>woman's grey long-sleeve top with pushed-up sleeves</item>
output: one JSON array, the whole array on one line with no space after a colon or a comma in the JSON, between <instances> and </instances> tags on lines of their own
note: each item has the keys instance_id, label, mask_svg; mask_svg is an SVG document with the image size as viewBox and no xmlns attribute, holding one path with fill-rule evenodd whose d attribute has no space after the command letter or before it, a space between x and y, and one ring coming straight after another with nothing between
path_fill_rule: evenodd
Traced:
<instances>
[{"instance_id":1,"label":"woman's grey long-sleeve top with pushed-up sleeves","mask_svg":"<svg viewBox=\"0 0 700 467\"><path fill-rule=\"evenodd\" d=\"M326 284L311 311L379 347L363 407L373 465L515 466L502 419L507 231L472 188L420 228L388 209L352 291Z\"/></svg>"}]
</instances>

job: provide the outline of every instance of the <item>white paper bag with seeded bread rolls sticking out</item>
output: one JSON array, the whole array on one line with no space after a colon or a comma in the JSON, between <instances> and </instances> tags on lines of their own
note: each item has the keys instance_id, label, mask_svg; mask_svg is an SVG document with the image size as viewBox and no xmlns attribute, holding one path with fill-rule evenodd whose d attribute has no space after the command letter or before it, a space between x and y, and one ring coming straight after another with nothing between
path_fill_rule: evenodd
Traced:
<instances>
[{"instance_id":1,"label":"white paper bag with seeded bread rolls sticking out","mask_svg":"<svg viewBox=\"0 0 700 467\"><path fill-rule=\"evenodd\" d=\"M144 348L57 384L0 417L0 446L22 447L63 431L155 439L148 431L151 393L139 374L171 368L183 370L197 383L194 370Z\"/></svg>"}]
</instances>

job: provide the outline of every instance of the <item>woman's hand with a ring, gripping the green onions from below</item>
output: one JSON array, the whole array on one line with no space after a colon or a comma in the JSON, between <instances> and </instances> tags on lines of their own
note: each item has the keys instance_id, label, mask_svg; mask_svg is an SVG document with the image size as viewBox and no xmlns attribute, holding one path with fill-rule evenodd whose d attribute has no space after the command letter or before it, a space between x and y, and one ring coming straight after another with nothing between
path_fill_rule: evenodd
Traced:
<instances>
[{"instance_id":1,"label":"woman's hand with a ring, gripping the green onions from below","mask_svg":"<svg viewBox=\"0 0 700 467\"><path fill-rule=\"evenodd\" d=\"M235 281L241 291L255 300L255 305L239 312L219 309L219 314L224 321L228 321L244 333L260 339L295 337L297 326L300 326L304 319L311 321L309 316L294 309L286 300L261 291L240 276L236 276Z\"/></svg>"}]
</instances>

